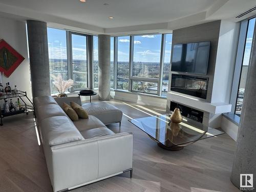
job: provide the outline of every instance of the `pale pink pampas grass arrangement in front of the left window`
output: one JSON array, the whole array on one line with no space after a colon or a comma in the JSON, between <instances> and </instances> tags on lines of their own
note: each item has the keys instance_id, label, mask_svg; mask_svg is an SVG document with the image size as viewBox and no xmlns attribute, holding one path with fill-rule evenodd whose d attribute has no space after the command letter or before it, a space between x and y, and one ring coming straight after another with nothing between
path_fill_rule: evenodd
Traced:
<instances>
[{"instance_id":1,"label":"pale pink pampas grass arrangement in front of the left window","mask_svg":"<svg viewBox=\"0 0 256 192\"><path fill-rule=\"evenodd\" d=\"M71 88L74 84L74 81L72 79L69 79L67 81L63 80L61 75L55 76L51 74L51 77L54 79L53 84L57 88L59 94L64 94L65 91Z\"/></svg>"}]
</instances>

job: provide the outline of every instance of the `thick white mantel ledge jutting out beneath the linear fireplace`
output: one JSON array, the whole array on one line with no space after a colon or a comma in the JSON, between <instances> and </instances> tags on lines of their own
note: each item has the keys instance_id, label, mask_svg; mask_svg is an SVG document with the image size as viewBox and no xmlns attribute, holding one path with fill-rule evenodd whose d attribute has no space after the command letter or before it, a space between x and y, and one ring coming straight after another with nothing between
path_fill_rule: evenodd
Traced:
<instances>
[{"instance_id":1,"label":"thick white mantel ledge jutting out beneath the linear fireplace","mask_svg":"<svg viewBox=\"0 0 256 192\"><path fill-rule=\"evenodd\" d=\"M167 99L211 114L229 113L231 111L231 104L229 103L209 103L177 92L168 92Z\"/></svg>"}]
</instances>

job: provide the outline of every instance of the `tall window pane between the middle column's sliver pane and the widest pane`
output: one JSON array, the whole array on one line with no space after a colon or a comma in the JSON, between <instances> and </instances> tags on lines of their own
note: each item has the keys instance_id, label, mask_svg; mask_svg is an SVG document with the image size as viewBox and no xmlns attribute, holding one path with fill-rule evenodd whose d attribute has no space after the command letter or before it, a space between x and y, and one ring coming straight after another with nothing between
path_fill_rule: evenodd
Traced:
<instances>
[{"instance_id":1,"label":"tall window pane between the middle column's sliver pane and the widest pane","mask_svg":"<svg viewBox=\"0 0 256 192\"><path fill-rule=\"evenodd\" d=\"M117 89L129 90L130 36L117 38Z\"/></svg>"}]
</instances>

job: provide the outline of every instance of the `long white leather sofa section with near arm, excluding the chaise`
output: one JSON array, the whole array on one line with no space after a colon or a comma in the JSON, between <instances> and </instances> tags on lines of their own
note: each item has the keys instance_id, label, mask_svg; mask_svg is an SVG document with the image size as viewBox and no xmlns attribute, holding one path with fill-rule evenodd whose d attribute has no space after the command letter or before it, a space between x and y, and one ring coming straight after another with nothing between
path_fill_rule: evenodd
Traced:
<instances>
[{"instance_id":1,"label":"long white leather sofa section with near arm, excluding the chaise","mask_svg":"<svg viewBox=\"0 0 256 192\"><path fill-rule=\"evenodd\" d=\"M132 176L131 133L115 134L92 115L72 122L51 96L36 97L34 103L53 191L70 190L126 171Z\"/></svg>"}]
</instances>

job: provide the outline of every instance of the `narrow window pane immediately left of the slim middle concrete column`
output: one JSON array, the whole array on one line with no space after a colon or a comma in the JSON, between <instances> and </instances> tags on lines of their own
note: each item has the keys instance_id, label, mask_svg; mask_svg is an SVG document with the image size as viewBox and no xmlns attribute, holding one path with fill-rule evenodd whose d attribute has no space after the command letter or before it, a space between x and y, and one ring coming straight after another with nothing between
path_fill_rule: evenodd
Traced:
<instances>
[{"instance_id":1,"label":"narrow window pane immediately left of the slim middle concrete column","mask_svg":"<svg viewBox=\"0 0 256 192\"><path fill-rule=\"evenodd\" d=\"M99 56L98 56L98 37L93 36L93 83L94 89L99 87Z\"/></svg>"}]
</instances>

